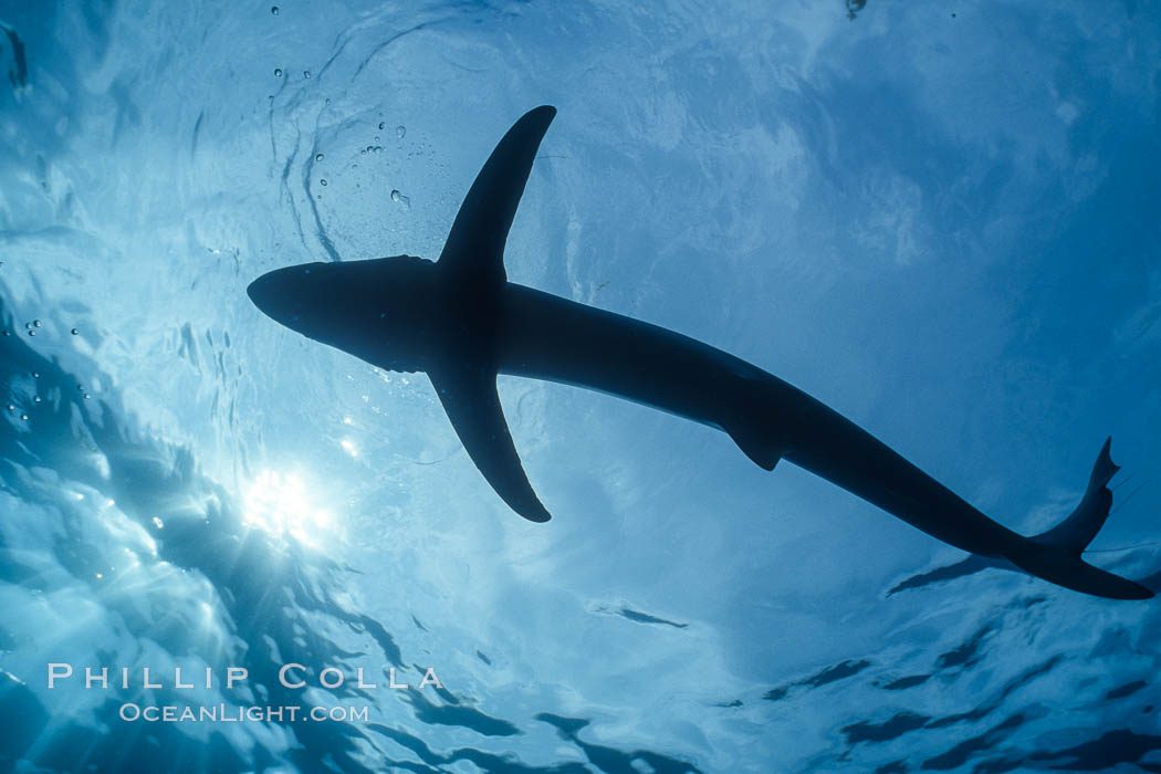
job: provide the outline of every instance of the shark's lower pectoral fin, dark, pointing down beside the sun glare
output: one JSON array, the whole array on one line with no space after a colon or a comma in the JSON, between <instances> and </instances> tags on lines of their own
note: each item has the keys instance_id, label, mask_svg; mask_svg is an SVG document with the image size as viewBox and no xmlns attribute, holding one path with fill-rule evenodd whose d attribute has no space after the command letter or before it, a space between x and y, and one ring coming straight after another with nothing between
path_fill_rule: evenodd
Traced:
<instances>
[{"instance_id":1,"label":"shark's lower pectoral fin, dark, pointing down beside the sun glare","mask_svg":"<svg viewBox=\"0 0 1161 774\"><path fill-rule=\"evenodd\" d=\"M496 369L464 364L430 376L468 456L500 499L528 521L548 521L551 516L528 483L504 420Z\"/></svg>"}]
</instances>

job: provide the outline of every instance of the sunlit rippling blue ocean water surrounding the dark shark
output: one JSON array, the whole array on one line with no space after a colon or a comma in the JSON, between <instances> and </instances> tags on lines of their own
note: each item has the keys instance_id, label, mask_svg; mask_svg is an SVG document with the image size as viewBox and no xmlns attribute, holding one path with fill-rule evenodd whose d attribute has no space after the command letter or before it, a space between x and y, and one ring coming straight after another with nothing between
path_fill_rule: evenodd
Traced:
<instances>
[{"instance_id":1,"label":"sunlit rippling blue ocean water surrounding the dark shark","mask_svg":"<svg viewBox=\"0 0 1161 774\"><path fill-rule=\"evenodd\" d=\"M1161 772L1161 608L502 376L553 520L424 374L246 295L440 254L558 115L509 280L817 397L1161 589L1161 7L0 0L0 771ZM405 686L405 687L404 687Z\"/></svg>"}]
</instances>

